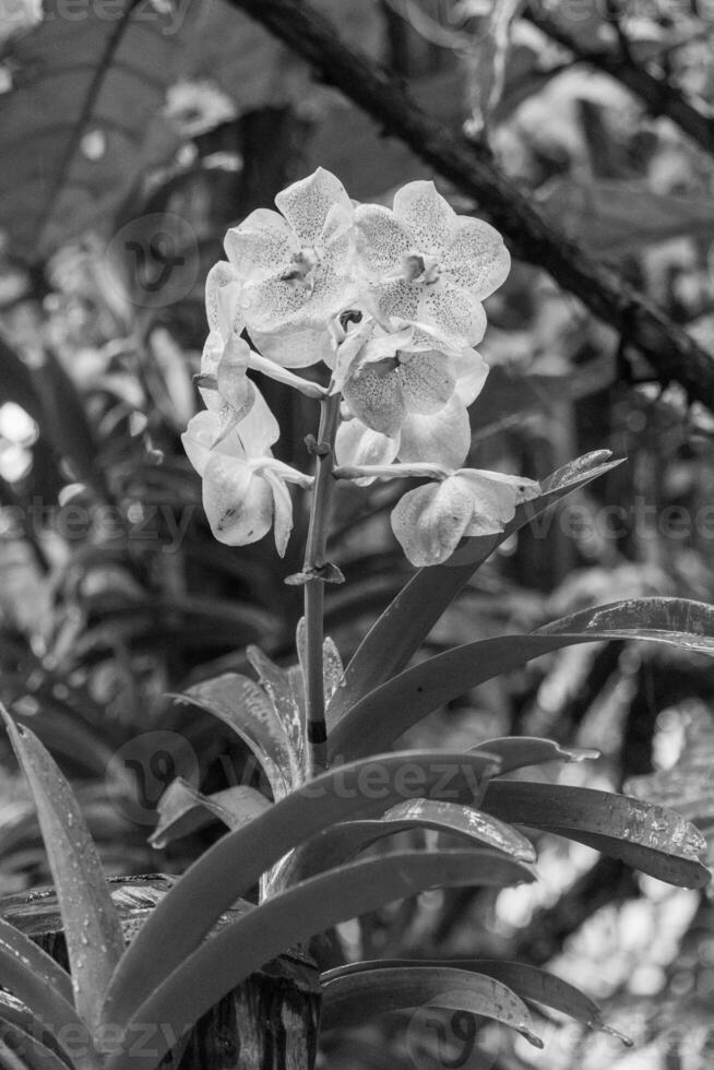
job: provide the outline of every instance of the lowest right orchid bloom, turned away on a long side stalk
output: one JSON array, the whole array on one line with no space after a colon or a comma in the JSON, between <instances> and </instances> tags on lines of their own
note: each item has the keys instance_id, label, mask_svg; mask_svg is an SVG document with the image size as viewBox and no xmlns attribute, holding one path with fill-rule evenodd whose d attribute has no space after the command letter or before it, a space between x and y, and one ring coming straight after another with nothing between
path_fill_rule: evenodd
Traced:
<instances>
[{"instance_id":1,"label":"lowest right orchid bloom, turned away on a long side stalk","mask_svg":"<svg viewBox=\"0 0 714 1070\"><path fill-rule=\"evenodd\" d=\"M407 491L392 510L392 531L412 564L441 564L463 536L502 532L515 507L539 492L533 479L460 468Z\"/></svg>"}]
</instances>

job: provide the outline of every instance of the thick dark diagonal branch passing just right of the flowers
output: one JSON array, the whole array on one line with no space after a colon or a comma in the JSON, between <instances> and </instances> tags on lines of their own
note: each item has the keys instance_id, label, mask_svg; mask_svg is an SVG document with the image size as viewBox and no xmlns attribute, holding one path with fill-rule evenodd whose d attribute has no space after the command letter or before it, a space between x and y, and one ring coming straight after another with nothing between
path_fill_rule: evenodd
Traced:
<instances>
[{"instance_id":1,"label":"thick dark diagonal branch passing just right of the flowers","mask_svg":"<svg viewBox=\"0 0 714 1070\"><path fill-rule=\"evenodd\" d=\"M653 365L657 378L681 383L714 411L714 359L665 312L612 269L591 260L554 229L493 163L488 150L455 136L421 111L380 67L335 37L329 22L296 0L230 0L302 56L412 151L488 213L513 252L547 271ZM349 135L348 130L346 136Z\"/></svg>"}]
</instances>

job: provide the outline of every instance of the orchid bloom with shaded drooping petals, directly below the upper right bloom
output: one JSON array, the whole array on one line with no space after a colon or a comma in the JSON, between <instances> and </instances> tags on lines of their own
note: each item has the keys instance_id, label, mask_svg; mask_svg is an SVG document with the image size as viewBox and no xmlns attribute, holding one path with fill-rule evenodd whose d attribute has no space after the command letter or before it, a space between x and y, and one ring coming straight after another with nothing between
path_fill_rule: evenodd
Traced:
<instances>
[{"instance_id":1,"label":"orchid bloom with shaded drooping petals, directly below the upper right bloom","mask_svg":"<svg viewBox=\"0 0 714 1070\"><path fill-rule=\"evenodd\" d=\"M467 346L437 344L424 328L388 334L373 320L347 334L334 380L355 418L337 431L340 464L383 464L397 456L449 469L463 464L471 445L467 406L488 367Z\"/></svg>"}]
</instances>

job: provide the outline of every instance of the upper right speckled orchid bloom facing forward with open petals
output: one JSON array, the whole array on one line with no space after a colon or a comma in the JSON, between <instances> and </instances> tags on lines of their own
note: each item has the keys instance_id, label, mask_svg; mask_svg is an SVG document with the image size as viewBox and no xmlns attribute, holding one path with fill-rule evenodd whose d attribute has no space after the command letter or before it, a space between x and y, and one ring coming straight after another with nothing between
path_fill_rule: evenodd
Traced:
<instances>
[{"instance_id":1,"label":"upper right speckled orchid bloom facing forward with open petals","mask_svg":"<svg viewBox=\"0 0 714 1070\"><path fill-rule=\"evenodd\" d=\"M505 280L503 240L481 219L456 215L433 182L409 182L390 211L355 210L366 300L383 322L394 318L436 328L452 346L484 337L481 301Z\"/></svg>"}]
</instances>

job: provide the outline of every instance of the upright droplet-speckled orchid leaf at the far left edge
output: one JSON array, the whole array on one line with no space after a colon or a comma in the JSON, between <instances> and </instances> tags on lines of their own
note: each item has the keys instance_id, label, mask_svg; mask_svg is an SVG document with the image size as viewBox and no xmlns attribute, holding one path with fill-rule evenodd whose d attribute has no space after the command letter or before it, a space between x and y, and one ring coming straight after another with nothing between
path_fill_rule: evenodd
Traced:
<instances>
[{"instance_id":1,"label":"upright droplet-speckled orchid leaf at the far left edge","mask_svg":"<svg viewBox=\"0 0 714 1070\"><path fill-rule=\"evenodd\" d=\"M12 749L27 777L62 915L74 1003L96 1024L124 940L102 863L72 789L37 737L3 706Z\"/></svg>"}]
</instances>

